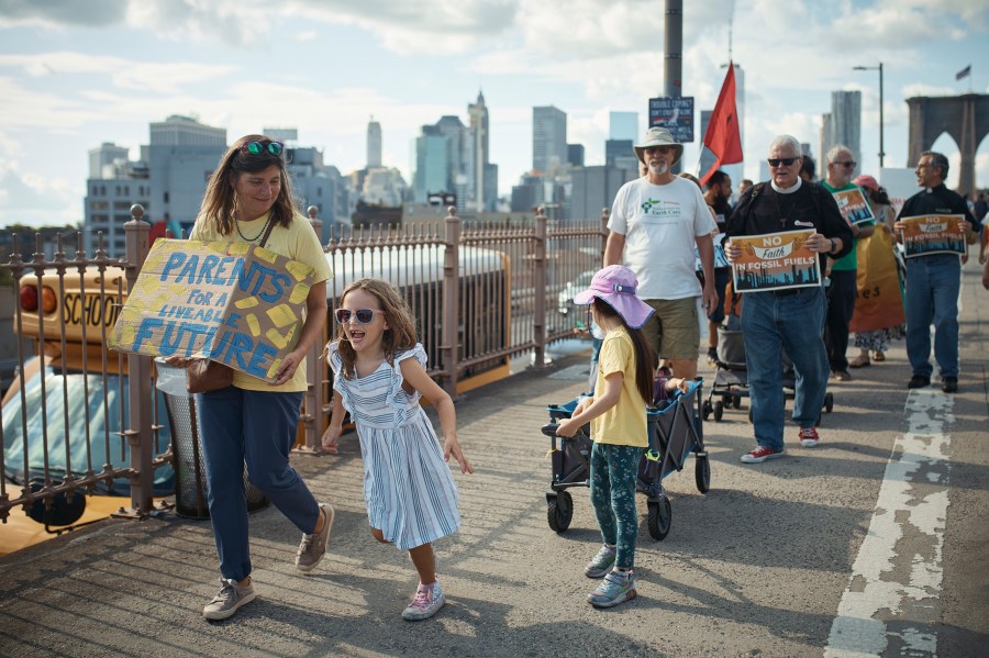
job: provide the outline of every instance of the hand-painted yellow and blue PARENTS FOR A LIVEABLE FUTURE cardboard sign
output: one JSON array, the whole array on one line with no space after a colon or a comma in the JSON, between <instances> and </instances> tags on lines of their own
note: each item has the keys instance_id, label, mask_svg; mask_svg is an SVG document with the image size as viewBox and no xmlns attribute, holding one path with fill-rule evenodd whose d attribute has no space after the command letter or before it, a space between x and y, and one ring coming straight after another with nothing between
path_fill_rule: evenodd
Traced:
<instances>
[{"instance_id":1,"label":"hand-painted yellow and blue PARENTS FOR A LIVEABLE FUTURE cardboard sign","mask_svg":"<svg viewBox=\"0 0 989 658\"><path fill-rule=\"evenodd\" d=\"M109 346L205 356L275 381L302 328L312 278L308 265L251 243L156 239Z\"/></svg>"}]
</instances>

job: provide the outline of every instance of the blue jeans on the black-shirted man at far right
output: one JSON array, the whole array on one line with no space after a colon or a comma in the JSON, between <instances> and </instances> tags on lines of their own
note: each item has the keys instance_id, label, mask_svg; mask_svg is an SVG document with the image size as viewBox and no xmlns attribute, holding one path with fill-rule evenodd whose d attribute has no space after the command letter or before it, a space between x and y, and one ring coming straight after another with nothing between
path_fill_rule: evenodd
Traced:
<instances>
[{"instance_id":1,"label":"blue jeans on the black-shirted man at far right","mask_svg":"<svg viewBox=\"0 0 989 658\"><path fill-rule=\"evenodd\" d=\"M914 375L931 377L934 358L942 377L958 377L958 291L962 263L954 254L907 260L907 356Z\"/></svg>"}]
</instances>

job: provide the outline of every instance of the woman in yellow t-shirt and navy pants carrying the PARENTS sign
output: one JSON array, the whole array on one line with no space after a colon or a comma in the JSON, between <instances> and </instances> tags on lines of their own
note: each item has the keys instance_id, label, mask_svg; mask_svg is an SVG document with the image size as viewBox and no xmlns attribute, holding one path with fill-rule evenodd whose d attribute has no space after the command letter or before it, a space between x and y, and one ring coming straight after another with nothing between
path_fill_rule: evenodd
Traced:
<instances>
[{"instance_id":1,"label":"woman in yellow t-shirt and navy pants carrying the PARENTS sign","mask_svg":"<svg viewBox=\"0 0 989 658\"><path fill-rule=\"evenodd\" d=\"M225 620L255 598L245 462L251 482L302 532L296 567L311 571L326 551L333 508L315 500L289 464L289 454L307 388L305 355L322 336L326 279L332 272L312 225L292 201L285 145L265 135L241 137L220 159L189 237L262 245L314 271L298 342L278 367L276 380L268 383L237 371L229 387L196 395L221 575L220 593L202 614L208 620ZM167 363L187 367L189 359L173 356Z\"/></svg>"}]
</instances>

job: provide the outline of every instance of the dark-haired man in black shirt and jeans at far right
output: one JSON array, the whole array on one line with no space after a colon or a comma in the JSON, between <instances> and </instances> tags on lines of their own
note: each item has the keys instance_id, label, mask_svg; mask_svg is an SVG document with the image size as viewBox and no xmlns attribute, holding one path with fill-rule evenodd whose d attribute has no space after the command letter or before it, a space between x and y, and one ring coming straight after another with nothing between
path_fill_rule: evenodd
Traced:
<instances>
[{"instance_id":1,"label":"dark-haired man in black shirt and jeans at far right","mask_svg":"<svg viewBox=\"0 0 989 658\"><path fill-rule=\"evenodd\" d=\"M976 226L968 204L944 186L948 161L932 150L921 154L916 164L916 183L924 189L907 200L893 230L902 241L903 218L919 215L964 215L967 231ZM967 256L966 256L967 257ZM907 357L913 377L907 388L930 386L931 323L934 323L934 358L941 370L941 390L958 390L958 291L962 263L957 254L927 254L907 259Z\"/></svg>"}]
</instances>

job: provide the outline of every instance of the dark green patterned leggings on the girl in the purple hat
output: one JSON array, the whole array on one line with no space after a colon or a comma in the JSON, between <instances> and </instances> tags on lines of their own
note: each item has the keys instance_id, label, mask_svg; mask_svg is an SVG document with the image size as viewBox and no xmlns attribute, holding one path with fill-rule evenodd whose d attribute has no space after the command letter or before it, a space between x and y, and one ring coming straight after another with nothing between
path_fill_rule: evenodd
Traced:
<instances>
[{"instance_id":1,"label":"dark green patterned leggings on the girl in the purple hat","mask_svg":"<svg viewBox=\"0 0 989 658\"><path fill-rule=\"evenodd\" d=\"M596 443L590 459L590 498L601 538L614 546L614 564L631 569L635 562L638 514L635 511L635 478L644 448Z\"/></svg>"}]
</instances>

